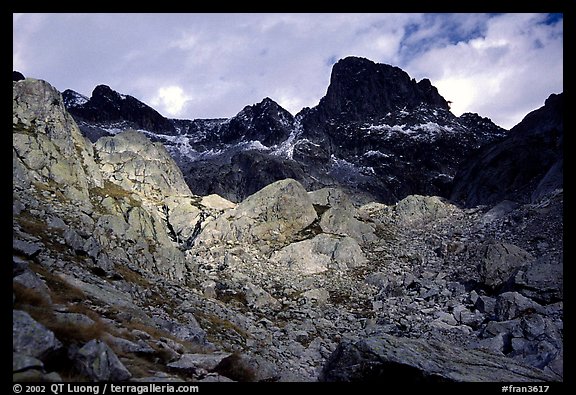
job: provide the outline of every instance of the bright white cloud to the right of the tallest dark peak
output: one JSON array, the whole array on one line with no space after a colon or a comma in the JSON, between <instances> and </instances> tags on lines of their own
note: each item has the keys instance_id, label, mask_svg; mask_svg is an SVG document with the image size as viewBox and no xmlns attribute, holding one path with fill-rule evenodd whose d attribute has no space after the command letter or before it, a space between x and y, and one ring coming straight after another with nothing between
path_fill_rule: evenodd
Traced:
<instances>
[{"instance_id":1,"label":"bright white cloud to the right of the tallest dark peak","mask_svg":"<svg viewBox=\"0 0 576 395\"><path fill-rule=\"evenodd\" d=\"M539 14L493 17L485 35L430 49L407 68L427 75L457 115L477 112L510 128L562 91L562 23L542 20Z\"/></svg>"}]
</instances>

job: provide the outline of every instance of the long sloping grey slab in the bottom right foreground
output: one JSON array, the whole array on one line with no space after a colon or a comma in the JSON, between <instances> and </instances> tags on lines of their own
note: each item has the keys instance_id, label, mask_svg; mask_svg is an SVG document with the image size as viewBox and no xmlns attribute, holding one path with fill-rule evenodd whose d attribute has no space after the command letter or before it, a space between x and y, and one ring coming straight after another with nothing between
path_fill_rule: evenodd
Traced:
<instances>
[{"instance_id":1,"label":"long sloping grey slab in the bottom right foreground","mask_svg":"<svg viewBox=\"0 0 576 395\"><path fill-rule=\"evenodd\" d=\"M402 382L554 381L542 370L483 350L465 350L434 340L380 334L343 341L330 356L320 381Z\"/></svg>"}]
</instances>

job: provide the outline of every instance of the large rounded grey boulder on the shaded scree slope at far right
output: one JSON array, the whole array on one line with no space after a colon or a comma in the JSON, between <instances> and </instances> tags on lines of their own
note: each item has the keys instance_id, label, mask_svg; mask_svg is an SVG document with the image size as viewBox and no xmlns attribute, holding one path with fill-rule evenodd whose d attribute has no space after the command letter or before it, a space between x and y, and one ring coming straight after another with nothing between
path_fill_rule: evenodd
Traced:
<instances>
[{"instance_id":1,"label":"large rounded grey boulder on the shaded scree slope at far right","mask_svg":"<svg viewBox=\"0 0 576 395\"><path fill-rule=\"evenodd\" d=\"M487 243L480 247L478 255L480 281L492 289L504 285L522 266L533 259L532 255L522 248L507 243Z\"/></svg>"}]
</instances>

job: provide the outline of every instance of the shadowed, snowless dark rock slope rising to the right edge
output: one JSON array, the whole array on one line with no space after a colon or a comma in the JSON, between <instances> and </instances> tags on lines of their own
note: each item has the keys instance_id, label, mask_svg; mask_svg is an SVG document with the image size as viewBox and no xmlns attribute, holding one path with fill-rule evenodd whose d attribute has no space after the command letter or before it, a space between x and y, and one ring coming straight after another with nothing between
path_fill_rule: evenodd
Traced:
<instances>
[{"instance_id":1,"label":"shadowed, snowless dark rock slope rising to the right edge","mask_svg":"<svg viewBox=\"0 0 576 395\"><path fill-rule=\"evenodd\" d=\"M467 206L530 202L562 188L563 111L563 94L553 94L508 138L479 150L458 171L452 199Z\"/></svg>"}]
</instances>

